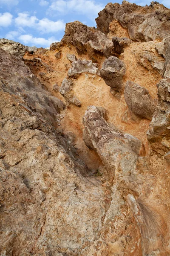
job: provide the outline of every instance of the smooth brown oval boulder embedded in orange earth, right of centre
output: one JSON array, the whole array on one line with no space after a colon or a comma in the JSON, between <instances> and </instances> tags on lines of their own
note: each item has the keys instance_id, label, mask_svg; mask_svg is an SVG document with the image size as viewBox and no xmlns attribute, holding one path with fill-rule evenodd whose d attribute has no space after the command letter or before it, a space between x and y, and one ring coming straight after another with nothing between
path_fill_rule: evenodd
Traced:
<instances>
[{"instance_id":1,"label":"smooth brown oval boulder embedded in orange earth, right of centre","mask_svg":"<svg viewBox=\"0 0 170 256\"><path fill-rule=\"evenodd\" d=\"M130 111L141 118L152 120L155 106L146 88L132 81L127 81L124 96Z\"/></svg>"}]
</instances>

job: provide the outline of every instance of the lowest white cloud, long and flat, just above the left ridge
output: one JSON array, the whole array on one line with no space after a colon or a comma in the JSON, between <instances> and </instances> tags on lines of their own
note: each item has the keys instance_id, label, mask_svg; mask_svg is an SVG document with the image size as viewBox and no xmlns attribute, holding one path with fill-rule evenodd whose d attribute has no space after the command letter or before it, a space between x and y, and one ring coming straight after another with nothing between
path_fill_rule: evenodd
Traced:
<instances>
[{"instance_id":1,"label":"lowest white cloud, long and flat, just above the left ridge","mask_svg":"<svg viewBox=\"0 0 170 256\"><path fill-rule=\"evenodd\" d=\"M28 44L28 45L35 45L35 46L44 46L44 47L49 47L50 44L53 42L57 42L57 40L54 37L45 39L45 38L35 38L32 35L20 35L19 40L23 44Z\"/></svg>"}]
</instances>

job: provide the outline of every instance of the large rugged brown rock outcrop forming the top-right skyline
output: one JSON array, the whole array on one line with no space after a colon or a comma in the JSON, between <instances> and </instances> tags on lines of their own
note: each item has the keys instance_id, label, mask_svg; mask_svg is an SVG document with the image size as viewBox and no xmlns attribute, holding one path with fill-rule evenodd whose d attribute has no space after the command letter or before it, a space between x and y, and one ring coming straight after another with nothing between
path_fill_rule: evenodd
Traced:
<instances>
[{"instance_id":1,"label":"large rugged brown rock outcrop forming the top-right skyline","mask_svg":"<svg viewBox=\"0 0 170 256\"><path fill-rule=\"evenodd\" d=\"M111 21L117 20L127 28L130 39L134 41L162 40L170 35L170 10L162 4L152 2L150 6L137 6L123 1L108 3L96 18L97 28L106 35ZM148 26L149 25L149 26Z\"/></svg>"}]
</instances>

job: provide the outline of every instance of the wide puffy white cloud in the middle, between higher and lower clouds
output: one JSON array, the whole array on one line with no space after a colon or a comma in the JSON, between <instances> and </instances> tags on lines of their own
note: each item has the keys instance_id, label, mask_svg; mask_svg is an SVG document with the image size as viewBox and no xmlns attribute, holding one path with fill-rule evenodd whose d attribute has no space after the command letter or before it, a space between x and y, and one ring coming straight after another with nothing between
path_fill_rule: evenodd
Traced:
<instances>
[{"instance_id":1,"label":"wide puffy white cloud in the middle, between higher and lower clouds","mask_svg":"<svg viewBox=\"0 0 170 256\"><path fill-rule=\"evenodd\" d=\"M47 18L39 20L36 16L30 16L27 13L19 13L15 24L17 27L28 26L42 33L58 32L65 29L65 23L62 20L52 21Z\"/></svg>"}]
</instances>

